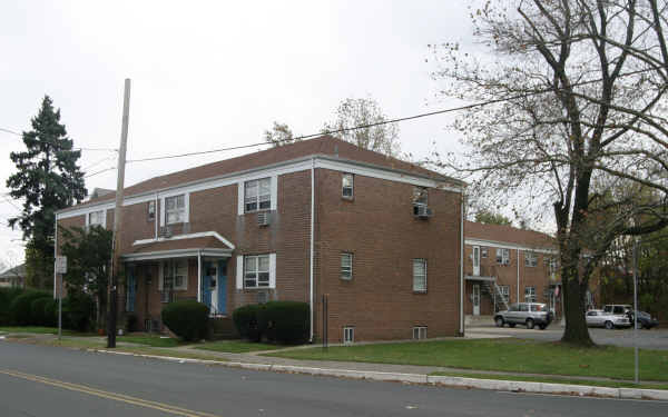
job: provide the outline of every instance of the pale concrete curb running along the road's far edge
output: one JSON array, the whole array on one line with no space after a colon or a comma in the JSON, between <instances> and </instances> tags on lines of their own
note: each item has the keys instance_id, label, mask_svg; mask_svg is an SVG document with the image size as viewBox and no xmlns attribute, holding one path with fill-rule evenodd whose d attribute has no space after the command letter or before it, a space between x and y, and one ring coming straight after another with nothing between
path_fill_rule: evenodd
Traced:
<instances>
[{"instance_id":1,"label":"pale concrete curb running along the road's far edge","mask_svg":"<svg viewBox=\"0 0 668 417\"><path fill-rule=\"evenodd\" d=\"M369 379L379 381L394 381L404 384L422 384L434 385L442 387L456 388L477 388L489 389L495 391L511 393L538 393L538 394L557 394L571 395L578 397L599 397L599 398L617 398L617 399L651 399L659 401L668 401L668 390L661 389L637 389L637 388L610 388L610 387L593 387L587 385L570 385L570 384L548 384L548 383L529 383L517 380L502 379L479 379L465 377L448 377L448 376L430 376L422 374L397 374L382 373L369 370L353 369L332 369L317 368L294 365L271 365L271 364L253 364L253 363L233 363L220 360L190 359L177 358L171 356L158 356L146 354L132 354L127 351L115 351L105 349L86 349L86 351L98 354L112 354L124 356L137 356L149 359L161 359L175 361L179 364L203 364L203 365L219 365L229 368L265 370L288 374L304 374L314 376L330 376L351 379Z\"/></svg>"}]
</instances>

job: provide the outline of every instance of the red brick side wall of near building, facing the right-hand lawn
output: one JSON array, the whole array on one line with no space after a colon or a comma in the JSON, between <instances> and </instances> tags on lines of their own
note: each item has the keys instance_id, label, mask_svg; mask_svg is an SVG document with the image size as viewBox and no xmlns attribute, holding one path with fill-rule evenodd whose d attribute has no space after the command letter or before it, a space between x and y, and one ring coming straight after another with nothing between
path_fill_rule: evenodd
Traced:
<instances>
[{"instance_id":1,"label":"red brick side wall of near building, facing the right-hand lawn","mask_svg":"<svg viewBox=\"0 0 668 417\"><path fill-rule=\"evenodd\" d=\"M328 340L343 327L356 340L410 339L413 326L429 337L459 331L459 195L430 189L429 220L413 216L413 186L355 176L354 200L341 197L342 173L317 171L316 334L321 296L328 297ZM341 279L341 252L352 252L353 279ZM428 291L413 292L412 261L428 260Z\"/></svg>"}]
</instances>

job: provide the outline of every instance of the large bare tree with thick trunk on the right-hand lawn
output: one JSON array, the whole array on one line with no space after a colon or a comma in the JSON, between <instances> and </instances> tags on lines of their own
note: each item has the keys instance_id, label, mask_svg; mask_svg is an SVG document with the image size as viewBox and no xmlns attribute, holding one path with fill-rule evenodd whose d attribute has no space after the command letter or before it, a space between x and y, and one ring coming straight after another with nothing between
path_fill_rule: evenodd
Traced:
<instances>
[{"instance_id":1,"label":"large bare tree with thick trunk on the right-hand lawn","mask_svg":"<svg viewBox=\"0 0 668 417\"><path fill-rule=\"evenodd\" d=\"M551 208L567 342L592 344L584 295L611 242L668 224L666 9L666 0L487 1L471 17L489 53L433 49L445 95L489 102L454 123L463 162L438 162L487 198Z\"/></svg>"}]
</instances>

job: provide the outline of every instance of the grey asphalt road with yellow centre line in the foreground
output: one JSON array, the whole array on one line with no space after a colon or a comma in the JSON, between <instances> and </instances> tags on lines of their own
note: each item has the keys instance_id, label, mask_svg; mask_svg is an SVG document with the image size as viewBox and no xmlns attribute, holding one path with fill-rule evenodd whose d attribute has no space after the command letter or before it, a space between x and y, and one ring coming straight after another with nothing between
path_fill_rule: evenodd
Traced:
<instances>
[{"instance_id":1,"label":"grey asphalt road with yellow centre line in the foreground","mask_svg":"<svg viewBox=\"0 0 668 417\"><path fill-rule=\"evenodd\" d=\"M668 403L347 380L0 341L0 415L664 417Z\"/></svg>"}]
</instances>

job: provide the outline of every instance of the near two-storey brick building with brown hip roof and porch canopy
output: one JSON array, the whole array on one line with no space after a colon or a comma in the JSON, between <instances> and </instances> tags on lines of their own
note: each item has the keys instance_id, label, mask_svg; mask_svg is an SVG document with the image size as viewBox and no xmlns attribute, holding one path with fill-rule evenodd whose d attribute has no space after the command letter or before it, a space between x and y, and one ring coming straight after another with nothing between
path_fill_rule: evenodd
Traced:
<instances>
[{"instance_id":1,"label":"near two-storey brick building with brown hip roof and porch canopy","mask_svg":"<svg viewBox=\"0 0 668 417\"><path fill-rule=\"evenodd\" d=\"M462 187L322 137L157 177L125 190L121 311L160 326L173 299L218 317L245 304L312 306L314 339L454 336ZM114 193L61 210L63 227L111 227Z\"/></svg>"}]
</instances>

